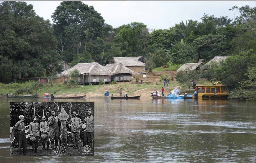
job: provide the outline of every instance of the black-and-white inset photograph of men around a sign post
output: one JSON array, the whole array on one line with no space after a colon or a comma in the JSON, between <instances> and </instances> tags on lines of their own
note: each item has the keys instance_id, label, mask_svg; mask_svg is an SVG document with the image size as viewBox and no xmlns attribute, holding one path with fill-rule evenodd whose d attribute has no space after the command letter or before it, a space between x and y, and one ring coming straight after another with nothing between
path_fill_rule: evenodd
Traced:
<instances>
[{"instance_id":1,"label":"black-and-white inset photograph of men around a sign post","mask_svg":"<svg viewBox=\"0 0 256 163\"><path fill-rule=\"evenodd\" d=\"M11 102L10 156L94 156L94 103Z\"/></svg>"}]
</instances>

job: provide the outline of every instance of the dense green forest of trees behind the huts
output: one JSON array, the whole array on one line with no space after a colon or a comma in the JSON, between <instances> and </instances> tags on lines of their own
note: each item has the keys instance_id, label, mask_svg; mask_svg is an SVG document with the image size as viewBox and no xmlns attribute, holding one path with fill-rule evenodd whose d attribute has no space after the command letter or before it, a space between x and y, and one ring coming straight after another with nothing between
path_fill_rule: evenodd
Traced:
<instances>
[{"instance_id":1,"label":"dense green forest of trees behind the huts","mask_svg":"<svg viewBox=\"0 0 256 163\"><path fill-rule=\"evenodd\" d=\"M256 7L229 10L234 19L204 14L201 22L181 20L169 29L149 30L142 22L113 28L81 1L61 2L52 14L53 24L37 15L31 4L4 1L0 78L45 76L59 70L62 60L71 66L89 62L105 66L113 56L144 56L154 68L230 56L209 67L211 72L196 76L221 81L230 89L256 89Z\"/></svg>"}]
</instances>

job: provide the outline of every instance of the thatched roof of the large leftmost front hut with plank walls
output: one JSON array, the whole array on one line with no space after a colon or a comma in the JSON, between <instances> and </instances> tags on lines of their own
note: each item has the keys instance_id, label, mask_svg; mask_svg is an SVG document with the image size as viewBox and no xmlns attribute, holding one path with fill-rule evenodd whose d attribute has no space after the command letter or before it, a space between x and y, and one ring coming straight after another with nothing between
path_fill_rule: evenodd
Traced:
<instances>
[{"instance_id":1,"label":"thatched roof of the large leftmost front hut with plank walls","mask_svg":"<svg viewBox=\"0 0 256 163\"><path fill-rule=\"evenodd\" d=\"M93 63L78 63L76 66L69 68L66 71L63 71L61 74L64 76L68 76L71 71L75 69L79 70L79 74L86 74L86 75L108 75L112 76L113 73L109 71L107 68L101 66L97 62Z\"/></svg>"}]
</instances>

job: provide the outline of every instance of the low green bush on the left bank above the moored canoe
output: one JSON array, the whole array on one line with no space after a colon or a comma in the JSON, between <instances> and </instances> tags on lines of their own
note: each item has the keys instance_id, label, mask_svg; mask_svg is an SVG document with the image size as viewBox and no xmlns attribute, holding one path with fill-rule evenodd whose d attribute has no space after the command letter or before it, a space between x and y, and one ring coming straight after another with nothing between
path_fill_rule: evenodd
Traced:
<instances>
[{"instance_id":1,"label":"low green bush on the left bank above the moored canoe","mask_svg":"<svg viewBox=\"0 0 256 163\"><path fill-rule=\"evenodd\" d=\"M20 87L14 91L15 95L23 95L23 94L36 94L37 90L44 88L42 82L29 81L27 87Z\"/></svg>"}]
</instances>

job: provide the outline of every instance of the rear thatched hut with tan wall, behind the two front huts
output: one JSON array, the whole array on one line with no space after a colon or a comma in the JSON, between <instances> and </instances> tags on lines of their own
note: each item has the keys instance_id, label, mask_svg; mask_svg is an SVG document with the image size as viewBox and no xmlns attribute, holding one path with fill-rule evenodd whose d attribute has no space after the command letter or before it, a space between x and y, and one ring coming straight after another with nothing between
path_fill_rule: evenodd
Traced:
<instances>
[{"instance_id":1,"label":"rear thatched hut with tan wall, behind the two front huts","mask_svg":"<svg viewBox=\"0 0 256 163\"><path fill-rule=\"evenodd\" d=\"M145 63L140 62L134 57L113 57L109 63L122 63L125 67L134 71L134 73L144 73L146 66Z\"/></svg>"}]
</instances>

